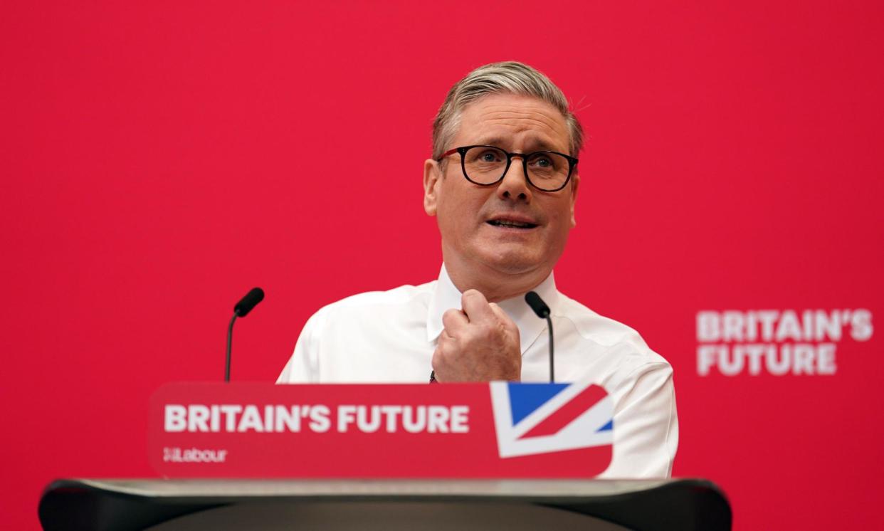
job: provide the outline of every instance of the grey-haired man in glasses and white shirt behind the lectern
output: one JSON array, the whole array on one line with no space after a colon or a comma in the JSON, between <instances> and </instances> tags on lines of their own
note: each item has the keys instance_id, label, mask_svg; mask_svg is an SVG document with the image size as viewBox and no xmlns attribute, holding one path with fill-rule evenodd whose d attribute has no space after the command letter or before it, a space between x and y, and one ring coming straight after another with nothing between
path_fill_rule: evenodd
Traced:
<instances>
[{"instance_id":1,"label":"grey-haired man in glasses and white shirt behind the lectern","mask_svg":"<svg viewBox=\"0 0 884 531\"><path fill-rule=\"evenodd\" d=\"M423 164L436 216L437 281L370 292L319 310L278 383L556 381L592 378L614 400L614 451L602 477L667 477L678 444L672 368L635 330L558 292L552 267L575 225L583 132L560 89L530 66L487 64L446 97Z\"/></svg>"}]
</instances>

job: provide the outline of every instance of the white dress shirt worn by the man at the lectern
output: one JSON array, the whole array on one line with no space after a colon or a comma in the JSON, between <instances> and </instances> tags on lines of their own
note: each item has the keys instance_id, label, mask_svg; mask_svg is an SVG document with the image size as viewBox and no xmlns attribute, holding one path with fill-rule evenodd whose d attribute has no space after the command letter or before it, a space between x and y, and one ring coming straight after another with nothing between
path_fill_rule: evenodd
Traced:
<instances>
[{"instance_id":1,"label":"white dress shirt worn by the man at the lectern","mask_svg":"<svg viewBox=\"0 0 884 531\"><path fill-rule=\"evenodd\" d=\"M552 274L534 291L552 314L556 382L591 379L613 398L613 459L599 477L669 477L678 418L667 360L636 330L568 299ZM548 382L546 320L522 297L498 304L519 327L522 382ZM461 308L461 292L444 266L427 284L332 303L304 325L277 383L427 383L449 308Z\"/></svg>"}]
</instances>

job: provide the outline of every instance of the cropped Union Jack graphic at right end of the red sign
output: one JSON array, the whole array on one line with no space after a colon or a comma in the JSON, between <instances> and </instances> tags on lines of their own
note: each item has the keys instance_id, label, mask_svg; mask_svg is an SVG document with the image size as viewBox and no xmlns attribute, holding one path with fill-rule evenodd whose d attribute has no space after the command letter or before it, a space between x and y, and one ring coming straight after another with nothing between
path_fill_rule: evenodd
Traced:
<instances>
[{"instance_id":1,"label":"cropped Union Jack graphic at right end of the red sign","mask_svg":"<svg viewBox=\"0 0 884 531\"><path fill-rule=\"evenodd\" d=\"M592 383L492 382L501 458L613 444L613 400Z\"/></svg>"}]
</instances>

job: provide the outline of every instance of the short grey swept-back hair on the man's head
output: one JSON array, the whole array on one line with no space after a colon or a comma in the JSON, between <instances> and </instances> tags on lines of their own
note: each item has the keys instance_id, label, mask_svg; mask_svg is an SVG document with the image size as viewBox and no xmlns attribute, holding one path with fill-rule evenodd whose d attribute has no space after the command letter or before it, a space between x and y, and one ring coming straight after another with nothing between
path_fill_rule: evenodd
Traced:
<instances>
[{"instance_id":1,"label":"short grey swept-back hair on the man's head","mask_svg":"<svg viewBox=\"0 0 884 531\"><path fill-rule=\"evenodd\" d=\"M445 102L433 120L433 158L446 152L448 143L461 125L461 112L469 103L485 95L514 94L533 96L550 103L565 117L570 136L571 156L583 148L583 127L568 108L568 99L543 72L516 61L485 64L469 72L448 91Z\"/></svg>"}]
</instances>

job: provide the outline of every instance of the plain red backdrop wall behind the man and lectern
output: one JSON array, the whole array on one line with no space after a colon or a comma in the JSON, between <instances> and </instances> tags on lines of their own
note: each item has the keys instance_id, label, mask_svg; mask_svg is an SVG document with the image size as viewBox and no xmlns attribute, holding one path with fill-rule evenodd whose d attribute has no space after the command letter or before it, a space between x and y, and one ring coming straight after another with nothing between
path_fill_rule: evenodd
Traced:
<instances>
[{"instance_id":1,"label":"plain red backdrop wall behind the man and lectern","mask_svg":"<svg viewBox=\"0 0 884 531\"><path fill-rule=\"evenodd\" d=\"M670 360L674 474L736 529L873 527L881 333L829 376L697 375L699 309L884 312L879 2L0 8L3 527L57 477L151 476L152 391L273 381L303 322L431 280L446 90L517 59L587 131L563 292ZM875 524L873 524L875 522Z\"/></svg>"}]
</instances>

